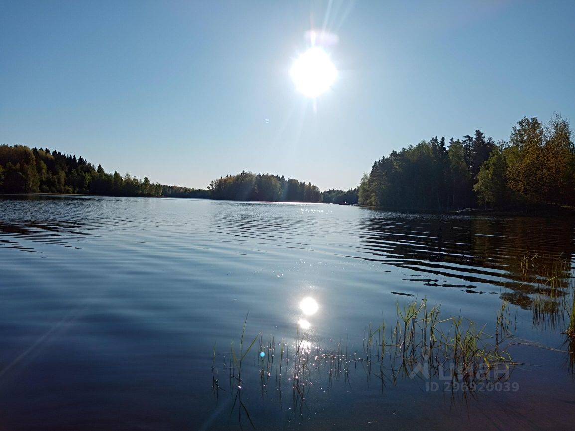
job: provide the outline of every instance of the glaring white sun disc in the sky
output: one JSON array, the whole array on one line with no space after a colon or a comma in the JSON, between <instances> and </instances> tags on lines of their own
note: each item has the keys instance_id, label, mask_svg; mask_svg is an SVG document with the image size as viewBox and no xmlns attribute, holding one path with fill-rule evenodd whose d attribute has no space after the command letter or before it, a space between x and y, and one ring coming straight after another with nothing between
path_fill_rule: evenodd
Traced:
<instances>
[{"instance_id":1,"label":"glaring white sun disc in the sky","mask_svg":"<svg viewBox=\"0 0 575 431\"><path fill-rule=\"evenodd\" d=\"M329 56L319 47L309 48L294 61L291 72L298 91L313 98L327 91L338 76Z\"/></svg>"}]
</instances>

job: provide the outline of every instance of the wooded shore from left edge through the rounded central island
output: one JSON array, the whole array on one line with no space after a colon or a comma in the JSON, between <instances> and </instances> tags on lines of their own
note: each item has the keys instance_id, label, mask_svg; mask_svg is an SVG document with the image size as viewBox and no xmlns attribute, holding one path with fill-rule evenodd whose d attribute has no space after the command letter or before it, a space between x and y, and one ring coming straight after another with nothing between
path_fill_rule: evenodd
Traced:
<instances>
[{"instance_id":1,"label":"wooded shore from left edge through the rounded central island","mask_svg":"<svg viewBox=\"0 0 575 431\"><path fill-rule=\"evenodd\" d=\"M241 172L212 181L207 189L151 183L126 173L109 174L82 156L46 148L0 145L0 193L76 193L111 196L213 198L248 201L319 202L312 183L277 175Z\"/></svg>"}]
</instances>

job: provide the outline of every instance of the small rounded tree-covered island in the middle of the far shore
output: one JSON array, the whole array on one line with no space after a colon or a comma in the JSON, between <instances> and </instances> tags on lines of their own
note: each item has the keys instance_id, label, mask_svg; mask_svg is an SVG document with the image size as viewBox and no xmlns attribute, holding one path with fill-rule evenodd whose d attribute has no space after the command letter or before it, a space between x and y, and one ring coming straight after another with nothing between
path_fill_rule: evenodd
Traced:
<instances>
[{"instance_id":1,"label":"small rounded tree-covered island in the middle of the far shore","mask_svg":"<svg viewBox=\"0 0 575 431\"><path fill-rule=\"evenodd\" d=\"M312 183L283 176L242 171L213 180L208 187L212 199L232 201L319 202L320 189Z\"/></svg>"}]
</instances>

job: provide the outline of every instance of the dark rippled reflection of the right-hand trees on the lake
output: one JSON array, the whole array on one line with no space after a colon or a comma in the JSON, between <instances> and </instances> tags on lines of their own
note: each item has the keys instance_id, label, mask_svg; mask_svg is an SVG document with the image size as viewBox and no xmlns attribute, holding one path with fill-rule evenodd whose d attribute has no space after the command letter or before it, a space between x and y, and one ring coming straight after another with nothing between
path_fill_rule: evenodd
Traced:
<instances>
[{"instance_id":1,"label":"dark rippled reflection of the right-hand trees on the lake","mask_svg":"<svg viewBox=\"0 0 575 431\"><path fill-rule=\"evenodd\" d=\"M509 288L501 298L534 309L538 324L553 322L549 316L562 311L570 289L572 226L565 219L385 217L374 212L361 221L360 238L369 260Z\"/></svg>"}]
</instances>

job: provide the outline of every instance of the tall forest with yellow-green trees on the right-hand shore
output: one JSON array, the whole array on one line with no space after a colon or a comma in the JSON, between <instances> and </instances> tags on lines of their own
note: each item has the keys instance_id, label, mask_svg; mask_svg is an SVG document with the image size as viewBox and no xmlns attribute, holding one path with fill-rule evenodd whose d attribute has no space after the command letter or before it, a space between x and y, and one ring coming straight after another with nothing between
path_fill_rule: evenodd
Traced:
<instances>
[{"instance_id":1,"label":"tall forest with yellow-green trees on the right-hand shore","mask_svg":"<svg viewBox=\"0 0 575 431\"><path fill-rule=\"evenodd\" d=\"M523 118L509 141L477 130L463 139L431 138L375 161L359 184L363 205L463 209L575 204L575 151L569 122Z\"/></svg>"}]
</instances>

